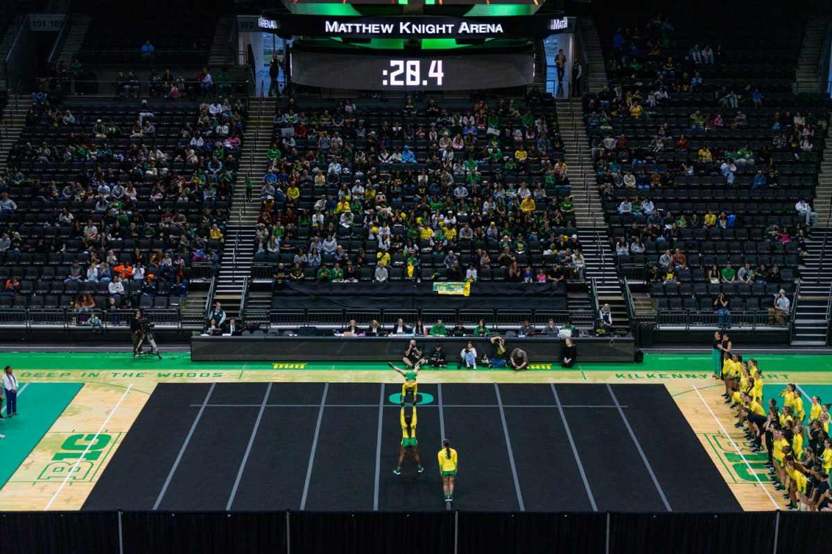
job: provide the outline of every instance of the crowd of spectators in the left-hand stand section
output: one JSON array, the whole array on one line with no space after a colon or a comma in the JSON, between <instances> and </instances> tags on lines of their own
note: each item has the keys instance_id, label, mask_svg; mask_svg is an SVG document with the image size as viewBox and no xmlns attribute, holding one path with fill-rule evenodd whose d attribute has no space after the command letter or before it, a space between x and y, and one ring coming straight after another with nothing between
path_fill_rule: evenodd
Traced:
<instances>
[{"instance_id":1,"label":"crowd of spectators in the left-hand stand section","mask_svg":"<svg viewBox=\"0 0 832 554\"><path fill-rule=\"evenodd\" d=\"M36 100L0 173L4 295L71 307L83 292L111 309L185 297L193 264L219 266L244 133L239 99Z\"/></svg>"}]
</instances>

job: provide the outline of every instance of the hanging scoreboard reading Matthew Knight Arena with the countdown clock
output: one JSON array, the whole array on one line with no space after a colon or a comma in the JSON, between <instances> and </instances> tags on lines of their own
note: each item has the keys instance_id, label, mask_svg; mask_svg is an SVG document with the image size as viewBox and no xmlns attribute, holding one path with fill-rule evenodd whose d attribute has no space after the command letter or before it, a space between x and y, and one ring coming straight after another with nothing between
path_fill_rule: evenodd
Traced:
<instances>
[{"instance_id":1,"label":"hanging scoreboard reading Matthew Knight Arena with the countdown clock","mask_svg":"<svg viewBox=\"0 0 832 554\"><path fill-rule=\"evenodd\" d=\"M304 2L267 10L260 27L294 38L291 82L366 91L465 91L535 79L535 47L571 32L535 2Z\"/></svg>"}]
</instances>

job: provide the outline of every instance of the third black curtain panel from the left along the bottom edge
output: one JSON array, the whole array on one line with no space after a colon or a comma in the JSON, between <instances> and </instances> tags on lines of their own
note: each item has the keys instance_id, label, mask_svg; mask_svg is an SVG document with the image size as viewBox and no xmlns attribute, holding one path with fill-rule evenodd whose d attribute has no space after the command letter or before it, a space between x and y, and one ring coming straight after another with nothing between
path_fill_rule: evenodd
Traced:
<instances>
[{"instance_id":1,"label":"third black curtain panel from the left along the bottom edge","mask_svg":"<svg viewBox=\"0 0 832 554\"><path fill-rule=\"evenodd\" d=\"M453 525L453 512L291 512L291 552L453 554Z\"/></svg>"}]
</instances>

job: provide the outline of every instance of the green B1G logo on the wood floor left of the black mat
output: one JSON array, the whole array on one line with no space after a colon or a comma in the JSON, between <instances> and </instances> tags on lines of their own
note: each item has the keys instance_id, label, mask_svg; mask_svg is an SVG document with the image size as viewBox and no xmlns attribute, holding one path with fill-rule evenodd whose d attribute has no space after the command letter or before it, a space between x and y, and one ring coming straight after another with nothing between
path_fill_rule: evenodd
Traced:
<instances>
[{"instance_id":1,"label":"green B1G logo on the wood floor left of the black mat","mask_svg":"<svg viewBox=\"0 0 832 554\"><path fill-rule=\"evenodd\" d=\"M67 474L73 482L92 481L119 437L121 433L69 435L37 476L37 481L63 480Z\"/></svg>"}]
</instances>

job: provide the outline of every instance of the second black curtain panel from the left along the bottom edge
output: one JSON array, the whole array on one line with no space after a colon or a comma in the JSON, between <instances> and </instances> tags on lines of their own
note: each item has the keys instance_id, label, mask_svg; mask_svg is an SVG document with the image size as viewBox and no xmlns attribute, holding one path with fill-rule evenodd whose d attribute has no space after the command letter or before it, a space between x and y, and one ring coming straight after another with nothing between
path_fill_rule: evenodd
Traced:
<instances>
[{"instance_id":1,"label":"second black curtain panel from the left along the bottom edge","mask_svg":"<svg viewBox=\"0 0 832 554\"><path fill-rule=\"evenodd\" d=\"M124 554L286 552L285 512L123 512L121 530Z\"/></svg>"}]
</instances>

